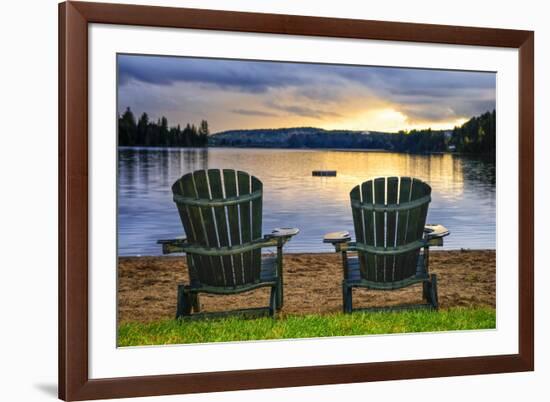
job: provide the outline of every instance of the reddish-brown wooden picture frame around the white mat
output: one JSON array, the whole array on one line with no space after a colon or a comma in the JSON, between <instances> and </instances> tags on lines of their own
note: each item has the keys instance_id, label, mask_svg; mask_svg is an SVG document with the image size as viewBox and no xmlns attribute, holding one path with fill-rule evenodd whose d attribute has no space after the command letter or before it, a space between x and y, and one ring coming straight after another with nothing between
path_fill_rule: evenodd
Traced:
<instances>
[{"instance_id":1,"label":"reddish-brown wooden picture frame around the white mat","mask_svg":"<svg viewBox=\"0 0 550 402\"><path fill-rule=\"evenodd\" d=\"M519 353L89 379L88 24L191 28L519 49ZM534 369L534 33L184 8L59 5L59 397L83 400Z\"/></svg>"}]
</instances>

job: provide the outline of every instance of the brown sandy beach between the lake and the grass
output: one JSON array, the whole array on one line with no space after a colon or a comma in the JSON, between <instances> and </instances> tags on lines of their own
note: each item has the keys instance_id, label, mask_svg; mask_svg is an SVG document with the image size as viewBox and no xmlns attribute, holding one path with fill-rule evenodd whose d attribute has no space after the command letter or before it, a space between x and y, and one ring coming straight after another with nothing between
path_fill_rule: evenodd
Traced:
<instances>
[{"instance_id":1,"label":"brown sandy beach between the lake and the grass","mask_svg":"<svg viewBox=\"0 0 550 402\"><path fill-rule=\"evenodd\" d=\"M495 250L432 251L430 272L438 276L439 302L450 307L495 308ZM119 257L118 322L175 317L177 284L187 282L185 257ZM342 311L342 263L336 253L284 256L285 304L281 314ZM204 311L267 306L268 288L232 296L201 294ZM421 285L396 291L354 291L354 307L417 303Z\"/></svg>"}]
</instances>

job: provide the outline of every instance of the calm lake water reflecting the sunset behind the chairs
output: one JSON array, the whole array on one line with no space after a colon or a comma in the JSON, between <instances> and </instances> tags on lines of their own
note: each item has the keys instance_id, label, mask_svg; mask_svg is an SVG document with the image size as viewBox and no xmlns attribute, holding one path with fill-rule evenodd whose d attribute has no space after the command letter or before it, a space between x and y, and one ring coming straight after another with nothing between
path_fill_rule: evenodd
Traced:
<instances>
[{"instance_id":1,"label":"calm lake water reflecting the sunset behind the chairs","mask_svg":"<svg viewBox=\"0 0 550 402\"><path fill-rule=\"evenodd\" d=\"M428 223L445 225L445 249L496 246L495 165L458 155L288 149L120 148L119 255L160 255L158 239L183 235L171 185L197 169L236 169L264 184L263 231L298 227L289 252L333 251L327 232L353 234L349 192L378 176L413 176L432 186ZM337 170L337 177L312 177Z\"/></svg>"}]
</instances>

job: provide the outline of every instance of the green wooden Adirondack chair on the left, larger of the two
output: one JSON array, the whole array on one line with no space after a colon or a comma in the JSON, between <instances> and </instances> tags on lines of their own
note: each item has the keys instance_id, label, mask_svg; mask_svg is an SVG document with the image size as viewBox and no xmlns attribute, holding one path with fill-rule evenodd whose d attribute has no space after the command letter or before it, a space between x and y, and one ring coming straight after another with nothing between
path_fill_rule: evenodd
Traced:
<instances>
[{"instance_id":1,"label":"green wooden Adirondack chair on the left, larger of the two","mask_svg":"<svg viewBox=\"0 0 550 402\"><path fill-rule=\"evenodd\" d=\"M176 317L200 312L199 293L237 294L271 287L269 307L226 313L275 315L283 306L283 245L299 230L262 236L262 182L248 173L197 170L172 186L186 237L159 240L163 253L184 252L189 283L178 285ZM261 249L276 247L276 256ZM193 316L210 314L193 314Z\"/></svg>"}]
</instances>

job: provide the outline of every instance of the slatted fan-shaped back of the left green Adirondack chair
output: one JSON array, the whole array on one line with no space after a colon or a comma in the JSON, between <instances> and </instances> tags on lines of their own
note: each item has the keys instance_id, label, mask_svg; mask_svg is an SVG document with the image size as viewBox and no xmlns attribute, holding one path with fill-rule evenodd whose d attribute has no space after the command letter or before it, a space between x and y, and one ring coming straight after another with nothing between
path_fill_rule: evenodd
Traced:
<instances>
[{"instance_id":1,"label":"slatted fan-shaped back of the left green Adirondack chair","mask_svg":"<svg viewBox=\"0 0 550 402\"><path fill-rule=\"evenodd\" d=\"M261 238L262 184L248 173L198 170L176 181L172 191L189 243L220 248ZM188 262L192 283L234 287L260 279L260 250L225 256L188 253Z\"/></svg>"}]
</instances>

